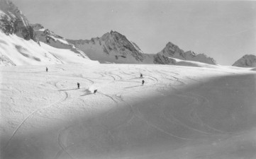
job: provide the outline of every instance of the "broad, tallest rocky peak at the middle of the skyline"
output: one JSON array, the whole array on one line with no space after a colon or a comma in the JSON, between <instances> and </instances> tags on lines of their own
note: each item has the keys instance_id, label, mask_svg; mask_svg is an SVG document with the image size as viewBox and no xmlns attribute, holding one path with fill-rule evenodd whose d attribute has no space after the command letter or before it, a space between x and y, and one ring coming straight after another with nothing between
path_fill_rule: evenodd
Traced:
<instances>
[{"instance_id":1,"label":"broad, tallest rocky peak at the middle of the skyline","mask_svg":"<svg viewBox=\"0 0 256 159\"><path fill-rule=\"evenodd\" d=\"M143 52L135 42L116 31L91 40L68 40L81 49L92 60L101 63L138 64L143 63Z\"/></svg>"}]
</instances>

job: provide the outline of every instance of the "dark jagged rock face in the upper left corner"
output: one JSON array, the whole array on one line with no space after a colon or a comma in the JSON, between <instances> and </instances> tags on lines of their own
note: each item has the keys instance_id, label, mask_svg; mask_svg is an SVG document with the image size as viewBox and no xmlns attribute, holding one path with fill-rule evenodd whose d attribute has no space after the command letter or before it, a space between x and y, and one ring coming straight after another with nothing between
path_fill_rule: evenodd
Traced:
<instances>
[{"instance_id":1,"label":"dark jagged rock face in the upper left corner","mask_svg":"<svg viewBox=\"0 0 256 159\"><path fill-rule=\"evenodd\" d=\"M6 35L16 34L25 40L34 40L35 33L28 20L20 10L9 0L0 0L0 30Z\"/></svg>"}]
</instances>

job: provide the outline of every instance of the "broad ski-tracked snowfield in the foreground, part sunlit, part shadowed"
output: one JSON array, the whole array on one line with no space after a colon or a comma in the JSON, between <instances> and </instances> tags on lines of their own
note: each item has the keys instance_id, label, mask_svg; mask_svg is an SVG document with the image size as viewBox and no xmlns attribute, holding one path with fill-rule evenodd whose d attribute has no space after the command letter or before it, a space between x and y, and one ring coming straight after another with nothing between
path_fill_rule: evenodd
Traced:
<instances>
[{"instance_id":1,"label":"broad ski-tracked snowfield in the foreground, part sunlit, part shadowed","mask_svg":"<svg viewBox=\"0 0 256 159\"><path fill-rule=\"evenodd\" d=\"M0 67L1 158L256 158L255 71L48 68Z\"/></svg>"}]
</instances>

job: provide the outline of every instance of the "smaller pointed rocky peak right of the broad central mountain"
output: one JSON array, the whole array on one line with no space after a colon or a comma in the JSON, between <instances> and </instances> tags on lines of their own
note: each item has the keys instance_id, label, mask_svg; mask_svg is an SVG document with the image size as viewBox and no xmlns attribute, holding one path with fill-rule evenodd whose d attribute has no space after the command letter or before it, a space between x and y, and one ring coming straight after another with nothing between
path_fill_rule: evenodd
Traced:
<instances>
[{"instance_id":1,"label":"smaller pointed rocky peak right of the broad central mountain","mask_svg":"<svg viewBox=\"0 0 256 159\"><path fill-rule=\"evenodd\" d=\"M206 56L206 54L196 54L195 52L184 52L182 49L179 49L177 45L174 45L172 42L168 42L164 49L158 54L162 54L165 57L173 57L175 59L182 59L188 61L199 61L206 64L216 64L216 61Z\"/></svg>"}]
</instances>

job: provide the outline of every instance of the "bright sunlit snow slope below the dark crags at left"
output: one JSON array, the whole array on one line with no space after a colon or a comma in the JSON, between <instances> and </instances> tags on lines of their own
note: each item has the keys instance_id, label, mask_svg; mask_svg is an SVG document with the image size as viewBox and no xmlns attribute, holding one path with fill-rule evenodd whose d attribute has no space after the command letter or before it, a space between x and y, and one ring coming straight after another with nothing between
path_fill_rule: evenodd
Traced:
<instances>
[{"instance_id":1,"label":"bright sunlit snow slope below the dark crags at left","mask_svg":"<svg viewBox=\"0 0 256 159\"><path fill-rule=\"evenodd\" d=\"M43 42L24 40L17 35L6 35L0 30L0 65L45 65L67 63L90 63L86 55L71 49L58 49Z\"/></svg>"}]
</instances>

